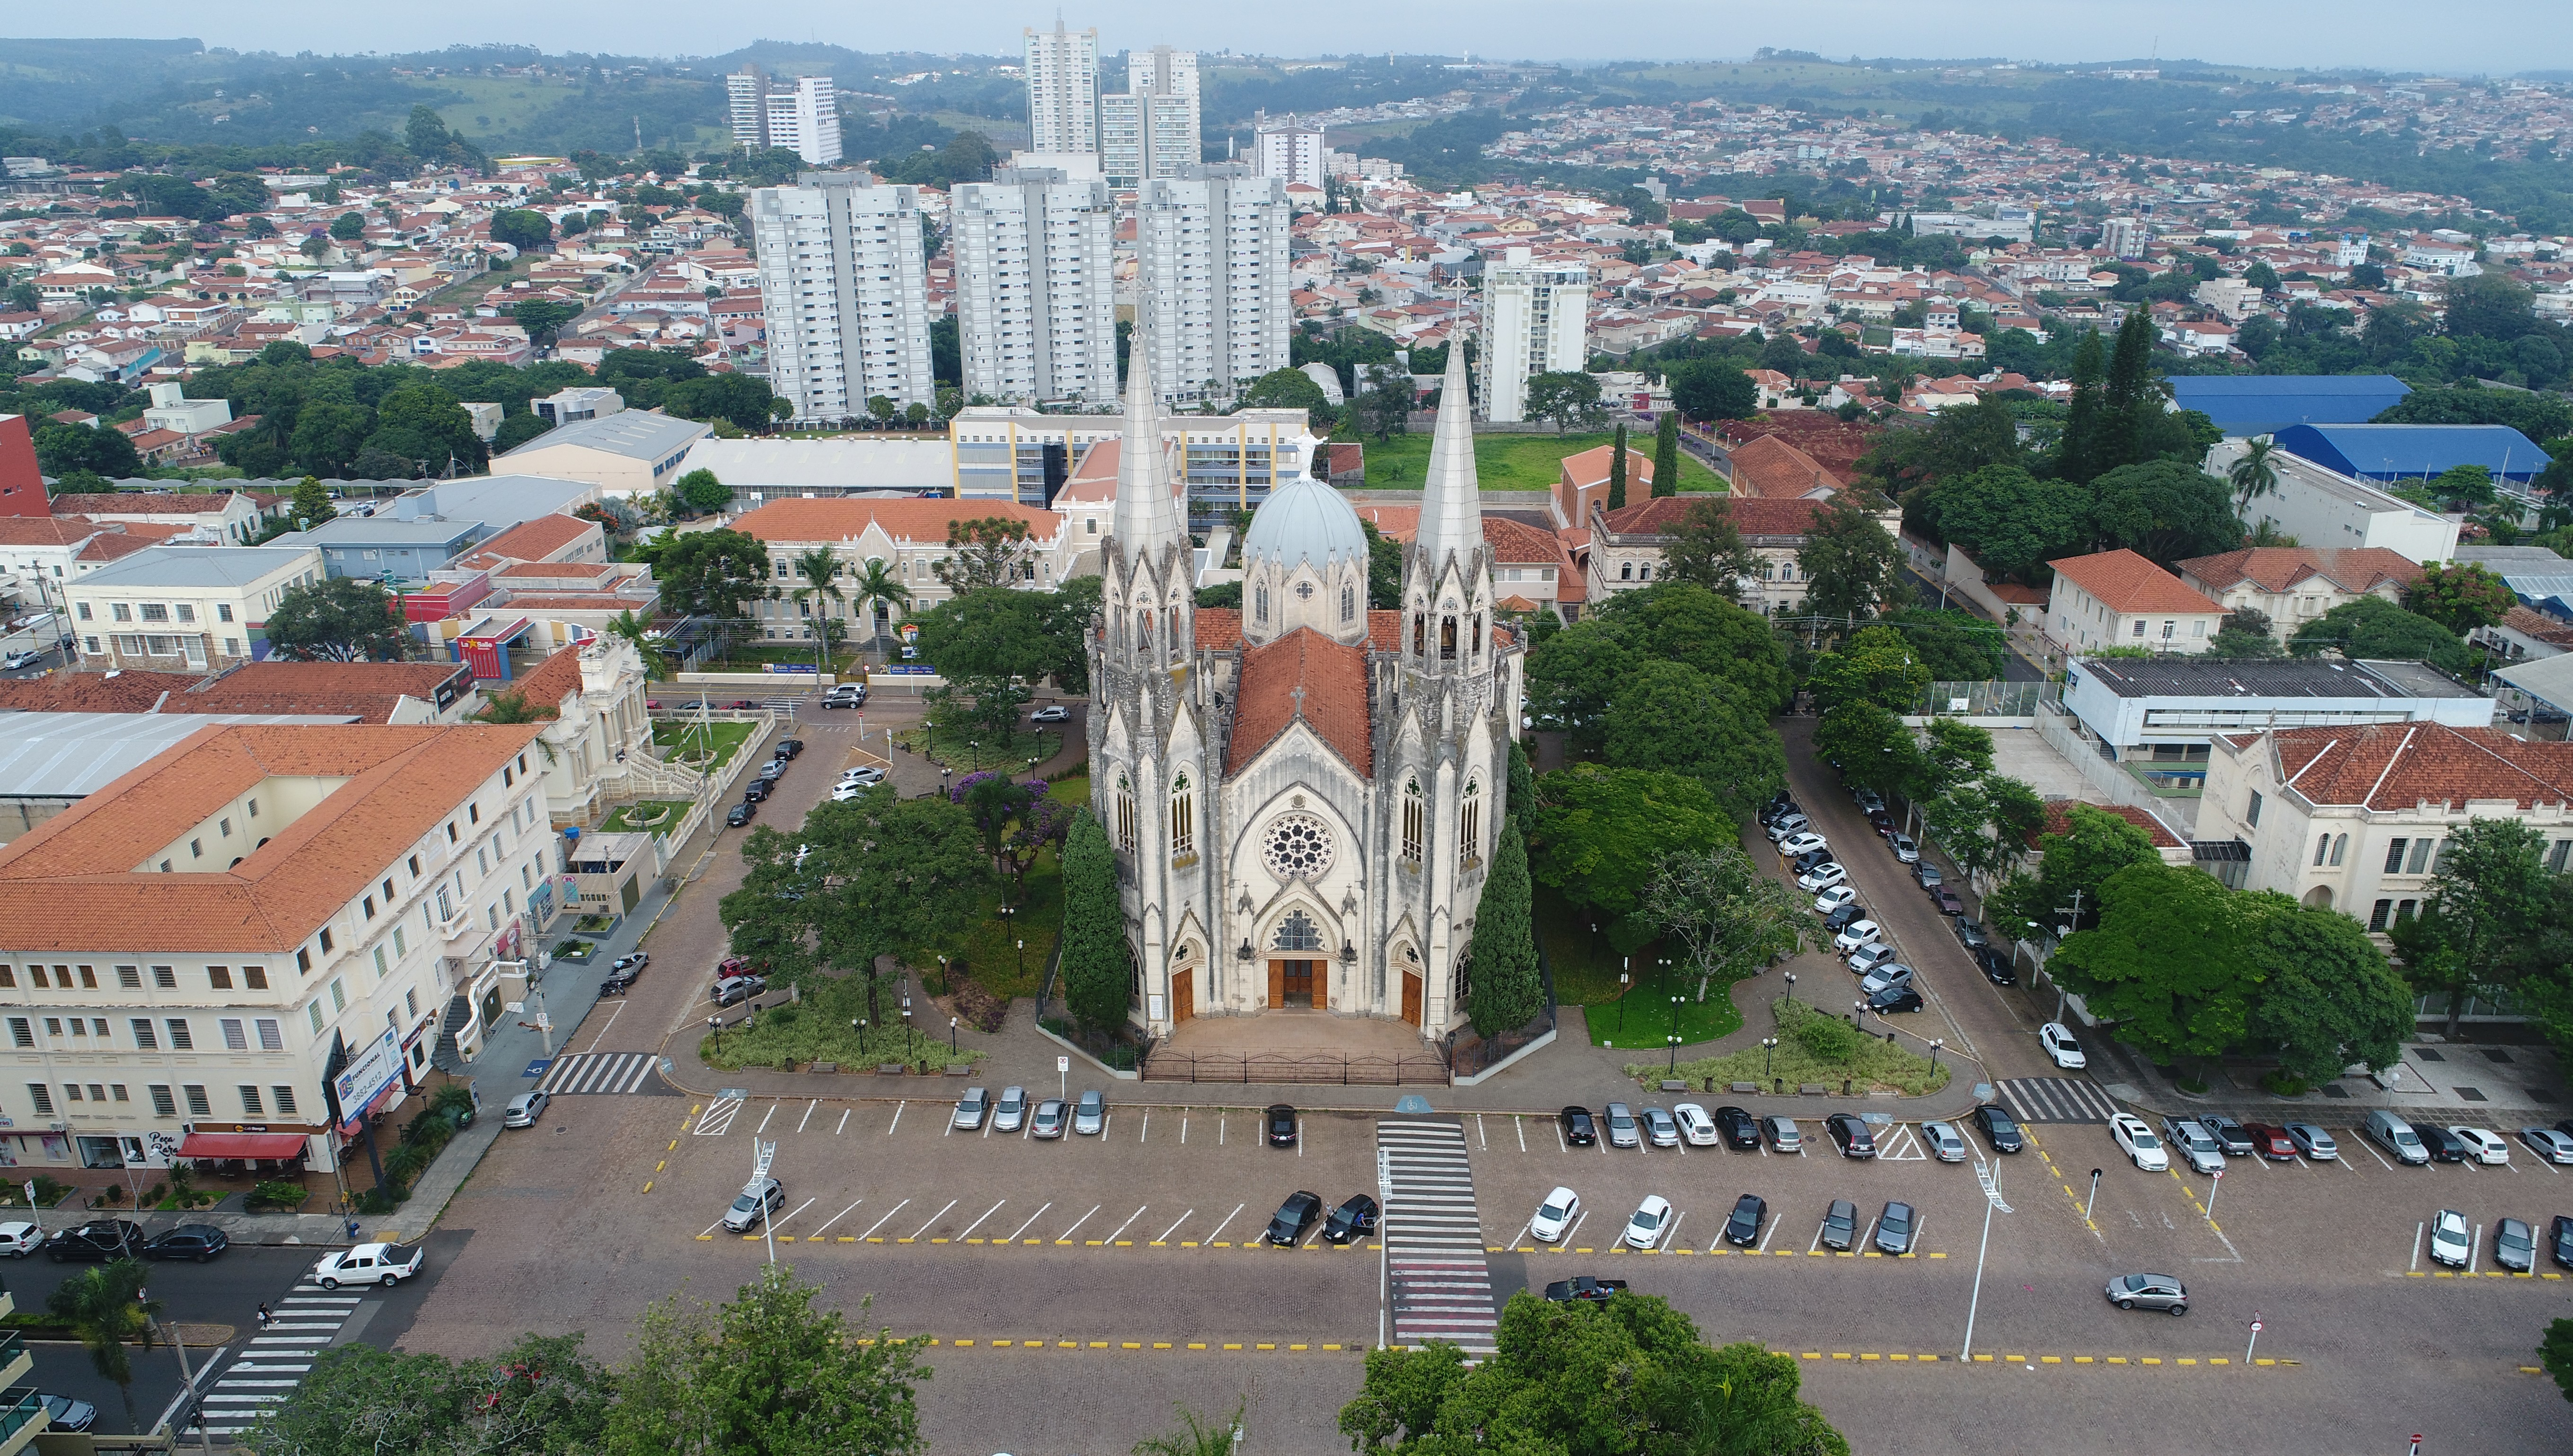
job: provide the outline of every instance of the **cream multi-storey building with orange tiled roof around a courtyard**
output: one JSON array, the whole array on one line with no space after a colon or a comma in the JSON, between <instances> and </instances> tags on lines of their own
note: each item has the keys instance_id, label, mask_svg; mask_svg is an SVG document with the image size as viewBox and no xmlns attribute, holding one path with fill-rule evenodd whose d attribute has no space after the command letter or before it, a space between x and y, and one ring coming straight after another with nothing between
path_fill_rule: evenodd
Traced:
<instances>
[{"instance_id":1,"label":"cream multi-storey building with orange tiled roof around a courtyard","mask_svg":"<svg viewBox=\"0 0 2573 1456\"><path fill-rule=\"evenodd\" d=\"M463 1057L504 1016L556 895L535 736L206 728L0 849L8 1160L165 1168L257 1124L247 1155L337 1165L450 1006Z\"/></svg>"}]
</instances>

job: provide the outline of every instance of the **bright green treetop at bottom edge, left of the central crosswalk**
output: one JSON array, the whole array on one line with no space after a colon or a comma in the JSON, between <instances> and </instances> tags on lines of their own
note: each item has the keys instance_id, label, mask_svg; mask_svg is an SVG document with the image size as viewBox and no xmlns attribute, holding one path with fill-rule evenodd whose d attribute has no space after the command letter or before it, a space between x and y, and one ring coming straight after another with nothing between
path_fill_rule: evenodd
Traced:
<instances>
[{"instance_id":1,"label":"bright green treetop at bottom edge, left of the central crosswalk","mask_svg":"<svg viewBox=\"0 0 2573 1456\"><path fill-rule=\"evenodd\" d=\"M600 1448L618 1456L921 1456L921 1340L859 1338L769 1263L731 1304L654 1304ZM865 1309L865 1304L859 1304ZM262 1451L268 1451L262 1446Z\"/></svg>"}]
</instances>

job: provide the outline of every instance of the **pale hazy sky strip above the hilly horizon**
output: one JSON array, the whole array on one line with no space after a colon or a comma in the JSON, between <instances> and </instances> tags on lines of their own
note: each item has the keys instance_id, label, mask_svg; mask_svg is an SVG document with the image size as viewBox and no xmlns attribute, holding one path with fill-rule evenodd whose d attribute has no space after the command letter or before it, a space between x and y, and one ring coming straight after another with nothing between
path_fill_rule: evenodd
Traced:
<instances>
[{"instance_id":1,"label":"pale hazy sky strip above the hilly horizon","mask_svg":"<svg viewBox=\"0 0 2573 1456\"><path fill-rule=\"evenodd\" d=\"M450 0L445 5L350 5L268 0L206 8L196 0L129 0L124 36L196 36L208 46L273 51L412 51L515 41L548 51L720 54L751 39L834 41L859 51L921 49L1011 54L1021 26L1047 26L1050 5L847 5L767 0L553 0L548 5ZM0 31L95 36L100 15L77 5L28 5ZM2017 57L2094 62L2195 57L2262 67L2383 67L2509 75L2573 69L2573 8L2565 0L2483 0L2424 10L2398 0L1804 0L1799 5L1708 5L1706 0L1302 0L1297 5L1204 5L1094 0L1068 5L1073 28L1099 26L1101 49L1176 44L1279 57L1333 51L1474 51L1503 59L1747 57L1760 46L1827 57Z\"/></svg>"}]
</instances>

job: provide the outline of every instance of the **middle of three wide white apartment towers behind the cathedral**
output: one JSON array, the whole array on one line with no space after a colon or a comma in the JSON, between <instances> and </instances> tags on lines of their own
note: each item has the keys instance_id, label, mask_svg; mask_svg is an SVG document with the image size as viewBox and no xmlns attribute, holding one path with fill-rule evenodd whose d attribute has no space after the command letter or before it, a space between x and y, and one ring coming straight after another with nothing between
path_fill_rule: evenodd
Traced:
<instances>
[{"instance_id":1,"label":"middle of three wide white apartment towers behind the cathedral","mask_svg":"<svg viewBox=\"0 0 2573 1456\"><path fill-rule=\"evenodd\" d=\"M965 394L1117 399L1117 206L1099 177L998 170L949 201Z\"/></svg>"}]
</instances>

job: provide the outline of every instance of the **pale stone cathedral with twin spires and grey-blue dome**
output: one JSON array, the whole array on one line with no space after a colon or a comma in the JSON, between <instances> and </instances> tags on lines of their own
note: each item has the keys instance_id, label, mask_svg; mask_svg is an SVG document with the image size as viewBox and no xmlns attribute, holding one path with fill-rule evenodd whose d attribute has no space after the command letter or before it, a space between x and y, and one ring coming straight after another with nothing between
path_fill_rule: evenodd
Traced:
<instances>
[{"instance_id":1,"label":"pale stone cathedral with twin spires and grey-blue dome","mask_svg":"<svg viewBox=\"0 0 2573 1456\"><path fill-rule=\"evenodd\" d=\"M1137 319L1137 358L1150 304ZM1117 846L1132 1016L1464 1024L1464 952L1500 833L1523 643L1492 615L1464 350L1449 350L1402 607L1366 605L1366 532L1312 476L1243 538L1243 605L1196 607L1184 466L1132 370L1091 638L1091 795ZM1281 1026L1323 1044L1328 1021Z\"/></svg>"}]
</instances>

